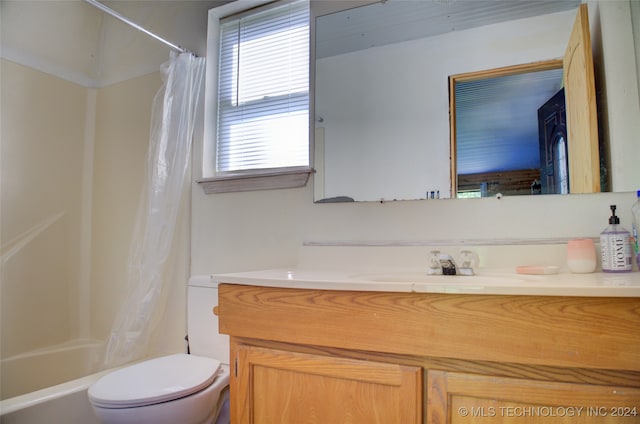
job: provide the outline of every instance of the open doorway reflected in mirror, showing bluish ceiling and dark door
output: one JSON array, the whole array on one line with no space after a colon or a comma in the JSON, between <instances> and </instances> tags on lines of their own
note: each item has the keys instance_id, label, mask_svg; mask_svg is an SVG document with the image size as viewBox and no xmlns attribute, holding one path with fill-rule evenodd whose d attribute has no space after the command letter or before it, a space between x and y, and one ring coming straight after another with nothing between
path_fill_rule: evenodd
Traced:
<instances>
[{"instance_id":1,"label":"open doorway reflected in mirror, showing bluish ceiling and dark door","mask_svg":"<svg viewBox=\"0 0 640 424\"><path fill-rule=\"evenodd\" d=\"M566 178L560 185L566 143L560 156L555 138L566 139L561 61L456 75L450 84L457 197L568 193Z\"/></svg>"}]
</instances>

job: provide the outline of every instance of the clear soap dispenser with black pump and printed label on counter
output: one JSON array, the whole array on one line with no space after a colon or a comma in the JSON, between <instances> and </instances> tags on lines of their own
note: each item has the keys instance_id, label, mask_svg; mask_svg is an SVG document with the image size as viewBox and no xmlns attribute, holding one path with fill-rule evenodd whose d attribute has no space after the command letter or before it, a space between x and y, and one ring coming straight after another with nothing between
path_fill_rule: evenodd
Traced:
<instances>
[{"instance_id":1,"label":"clear soap dispenser with black pump and printed label on counter","mask_svg":"<svg viewBox=\"0 0 640 424\"><path fill-rule=\"evenodd\" d=\"M609 226L600 233L602 270L604 272L631 271L631 233L620 225L616 205L611 205Z\"/></svg>"}]
</instances>

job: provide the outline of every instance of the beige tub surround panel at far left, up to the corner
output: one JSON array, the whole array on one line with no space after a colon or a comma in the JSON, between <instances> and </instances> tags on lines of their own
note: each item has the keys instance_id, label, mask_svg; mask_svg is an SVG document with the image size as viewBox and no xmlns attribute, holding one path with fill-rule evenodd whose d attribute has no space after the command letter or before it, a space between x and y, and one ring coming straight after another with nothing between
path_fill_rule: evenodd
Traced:
<instances>
[{"instance_id":1,"label":"beige tub surround panel at far left, up to the corner","mask_svg":"<svg viewBox=\"0 0 640 424\"><path fill-rule=\"evenodd\" d=\"M87 90L1 66L4 357L77 336Z\"/></svg>"}]
</instances>

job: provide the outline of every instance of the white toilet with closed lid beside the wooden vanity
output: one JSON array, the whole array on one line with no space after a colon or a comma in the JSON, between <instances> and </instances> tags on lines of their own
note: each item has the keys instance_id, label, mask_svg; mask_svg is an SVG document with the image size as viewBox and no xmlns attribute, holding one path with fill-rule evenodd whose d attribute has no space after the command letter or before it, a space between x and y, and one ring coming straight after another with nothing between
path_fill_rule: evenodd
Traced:
<instances>
[{"instance_id":1,"label":"white toilet with closed lid beside the wooden vanity","mask_svg":"<svg viewBox=\"0 0 640 424\"><path fill-rule=\"evenodd\" d=\"M218 334L218 285L192 277L187 289L191 354L138 362L103 376L89 401L105 424L228 423L229 337Z\"/></svg>"}]
</instances>

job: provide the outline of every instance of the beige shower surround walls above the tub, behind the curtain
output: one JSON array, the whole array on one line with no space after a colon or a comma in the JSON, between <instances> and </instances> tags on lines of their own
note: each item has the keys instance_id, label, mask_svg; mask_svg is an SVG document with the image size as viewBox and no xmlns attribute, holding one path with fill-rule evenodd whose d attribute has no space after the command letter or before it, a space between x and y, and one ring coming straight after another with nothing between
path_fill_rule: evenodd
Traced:
<instances>
[{"instance_id":1,"label":"beige shower surround walls above the tub, behind the curtain","mask_svg":"<svg viewBox=\"0 0 640 424\"><path fill-rule=\"evenodd\" d=\"M118 257L121 252L126 257L132 232L148 141L147 110L159 77L95 90L4 59L0 66L1 386L6 398L27 388L10 380L15 359L106 339L105 327L121 298L126 261ZM142 125L138 121L144 115ZM185 249L184 241L179 245ZM184 265L182 272L188 273ZM174 290L171 296L180 299L181 293ZM181 311L170 311L166 320L175 323L167 329L176 341L168 349L175 351L183 346L184 327ZM155 343L155 349L167 347ZM36 375L28 377L33 381Z\"/></svg>"}]
</instances>

